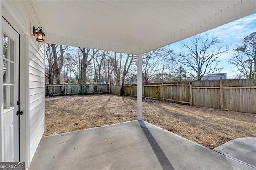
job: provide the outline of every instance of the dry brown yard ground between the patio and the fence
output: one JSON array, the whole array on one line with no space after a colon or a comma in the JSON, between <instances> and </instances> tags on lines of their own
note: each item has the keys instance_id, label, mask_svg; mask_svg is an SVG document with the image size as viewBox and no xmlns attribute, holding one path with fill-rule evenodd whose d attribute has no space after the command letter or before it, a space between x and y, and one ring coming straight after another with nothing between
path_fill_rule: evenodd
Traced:
<instances>
[{"instance_id":1,"label":"dry brown yard ground between the patio and the fence","mask_svg":"<svg viewBox=\"0 0 256 170\"><path fill-rule=\"evenodd\" d=\"M115 95L46 97L44 136L136 120L136 102ZM144 100L143 119L208 148L256 137L254 114Z\"/></svg>"}]
</instances>

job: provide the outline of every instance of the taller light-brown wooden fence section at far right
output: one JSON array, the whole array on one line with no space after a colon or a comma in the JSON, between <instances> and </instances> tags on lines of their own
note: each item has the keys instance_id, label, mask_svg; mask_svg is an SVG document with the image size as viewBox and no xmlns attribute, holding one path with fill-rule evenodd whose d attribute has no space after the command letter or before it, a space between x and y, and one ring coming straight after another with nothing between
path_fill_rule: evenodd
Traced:
<instances>
[{"instance_id":1,"label":"taller light-brown wooden fence section at far right","mask_svg":"<svg viewBox=\"0 0 256 170\"><path fill-rule=\"evenodd\" d=\"M256 113L256 79L192 82L193 105Z\"/></svg>"}]
</instances>

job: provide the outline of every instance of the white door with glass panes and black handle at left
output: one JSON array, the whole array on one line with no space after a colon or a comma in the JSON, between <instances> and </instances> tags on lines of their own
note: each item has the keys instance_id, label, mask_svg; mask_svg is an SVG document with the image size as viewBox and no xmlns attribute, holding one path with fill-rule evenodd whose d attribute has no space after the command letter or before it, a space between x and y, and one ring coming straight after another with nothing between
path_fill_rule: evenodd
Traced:
<instances>
[{"instance_id":1,"label":"white door with glass panes and black handle at left","mask_svg":"<svg viewBox=\"0 0 256 170\"><path fill-rule=\"evenodd\" d=\"M3 161L19 161L19 34L3 19Z\"/></svg>"}]
</instances>

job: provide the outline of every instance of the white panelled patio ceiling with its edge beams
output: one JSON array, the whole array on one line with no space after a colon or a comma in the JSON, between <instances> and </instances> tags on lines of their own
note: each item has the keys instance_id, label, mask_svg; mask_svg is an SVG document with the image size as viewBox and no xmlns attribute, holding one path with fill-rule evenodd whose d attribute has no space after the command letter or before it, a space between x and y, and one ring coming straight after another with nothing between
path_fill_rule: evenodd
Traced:
<instances>
[{"instance_id":1,"label":"white panelled patio ceiling with its edge beams","mask_svg":"<svg viewBox=\"0 0 256 170\"><path fill-rule=\"evenodd\" d=\"M30 0L46 42L145 53L256 12L256 0Z\"/></svg>"}]
</instances>

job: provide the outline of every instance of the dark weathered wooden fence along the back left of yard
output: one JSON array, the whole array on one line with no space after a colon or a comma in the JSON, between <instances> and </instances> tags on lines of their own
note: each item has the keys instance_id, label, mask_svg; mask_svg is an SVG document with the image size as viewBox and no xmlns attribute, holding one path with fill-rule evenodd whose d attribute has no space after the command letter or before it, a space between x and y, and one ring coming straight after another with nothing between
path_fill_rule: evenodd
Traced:
<instances>
[{"instance_id":1,"label":"dark weathered wooden fence along the back left of yard","mask_svg":"<svg viewBox=\"0 0 256 170\"><path fill-rule=\"evenodd\" d=\"M86 95L109 93L109 85L45 85L45 95Z\"/></svg>"}]
</instances>

